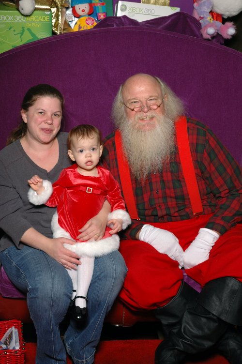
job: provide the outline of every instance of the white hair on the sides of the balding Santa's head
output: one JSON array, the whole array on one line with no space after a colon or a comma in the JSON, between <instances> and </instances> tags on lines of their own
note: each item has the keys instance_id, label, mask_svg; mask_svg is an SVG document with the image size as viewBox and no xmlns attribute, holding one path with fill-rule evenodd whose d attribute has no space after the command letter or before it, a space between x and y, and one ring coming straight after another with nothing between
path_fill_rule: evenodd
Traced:
<instances>
[{"instance_id":1,"label":"white hair on the sides of the balding Santa's head","mask_svg":"<svg viewBox=\"0 0 242 364\"><path fill-rule=\"evenodd\" d=\"M156 76L150 76L146 74L140 74L143 76L149 76L154 78L160 85L162 95L167 97L167 100L163 103L165 109L165 115L172 121L175 121L179 116L184 115L184 107L179 97L166 85L164 81ZM126 81L125 81L126 82ZM112 107L112 120L117 128L125 120L125 106L123 105L122 91L125 82L120 86L119 91L114 99Z\"/></svg>"}]
</instances>

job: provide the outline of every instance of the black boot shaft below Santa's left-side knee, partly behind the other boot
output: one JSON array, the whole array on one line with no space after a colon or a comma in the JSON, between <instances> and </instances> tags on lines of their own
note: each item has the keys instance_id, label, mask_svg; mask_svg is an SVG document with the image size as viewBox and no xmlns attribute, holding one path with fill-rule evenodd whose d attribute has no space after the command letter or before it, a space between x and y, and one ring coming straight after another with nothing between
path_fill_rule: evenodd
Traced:
<instances>
[{"instance_id":1,"label":"black boot shaft below Santa's left-side knee, partly behind the other boot","mask_svg":"<svg viewBox=\"0 0 242 364\"><path fill-rule=\"evenodd\" d=\"M181 282L177 295L165 306L154 310L155 317L161 321L165 338L180 321L183 313L197 302L198 292L186 282Z\"/></svg>"}]
</instances>

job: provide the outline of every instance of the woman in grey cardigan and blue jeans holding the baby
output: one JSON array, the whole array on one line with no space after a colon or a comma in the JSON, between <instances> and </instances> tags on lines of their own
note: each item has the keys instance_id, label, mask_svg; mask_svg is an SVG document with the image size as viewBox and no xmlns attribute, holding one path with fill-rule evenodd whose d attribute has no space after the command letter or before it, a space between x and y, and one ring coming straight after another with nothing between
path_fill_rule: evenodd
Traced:
<instances>
[{"instance_id":1,"label":"woman in grey cardigan and blue jeans holding the baby","mask_svg":"<svg viewBox=\"0 0 242 364\"><path fill-rule=\"evenodd\" d=\"M29 176L38 174L54 182L70 165L67 133L61 133L63 97L54 87L41 84L27 91L21 108L22 122L7 147L0 151L0 261L16 287L27 293L31 319L37 333L36 364L66 363L59 325L72 294L65 270L76 269L81 259L64 248L69 239L51 235L55 212L28 201ZM109 211L102 211L80 230L83 240L101 239ZM84 328L70 323L64 343L75 364L91 364L103 321L121 289L126 267L119 252L96 258L89 289L90 318Z\"/></svg>"}]
</instances>

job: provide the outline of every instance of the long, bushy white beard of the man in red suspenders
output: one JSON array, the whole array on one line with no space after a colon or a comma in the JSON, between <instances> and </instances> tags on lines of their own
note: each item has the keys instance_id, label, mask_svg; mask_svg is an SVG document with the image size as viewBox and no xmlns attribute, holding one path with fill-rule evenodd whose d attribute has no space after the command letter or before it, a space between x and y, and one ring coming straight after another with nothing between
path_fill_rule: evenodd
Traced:
<instances>
[{"instance_id":1,"label":"long, bushy white beard of the man in red suspenders","mask_svg":"<svg viewBox=\"0 0 242 364\"><path fill-rule=\"evenodd\" d=\"M120 123L123 149L132 173L137 180L144 181L150 173L159 172L169 162L175 151L174 121L167 116L149 113L155 117L155 126L142 128L136 116L135 121L126 117ZM151 121L152 125L152 121Z\"/></svg>"}]
</instances>

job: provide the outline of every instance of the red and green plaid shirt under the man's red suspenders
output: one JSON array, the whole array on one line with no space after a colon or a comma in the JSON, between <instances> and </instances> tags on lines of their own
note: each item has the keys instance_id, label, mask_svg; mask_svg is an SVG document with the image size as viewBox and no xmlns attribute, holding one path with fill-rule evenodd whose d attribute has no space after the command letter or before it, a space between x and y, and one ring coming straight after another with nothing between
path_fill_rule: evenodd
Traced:
<instances>
[{"instance_id":1,"label":"red and green plaid shirt under the man's red suspenders","mask_svg":"<svg viewBox=\"0 0 242 364\"><path fill-rule=\"evenodd\" d=\"M188 119L187 129L203 214L213 213L206 227L224 234L242 221L241 168L207 126ZM114 133L106 137L104 147L103 166L121 185ZM178 152L162 172L152 173L143 184L132 175L131 180L141 221L132 221L127 239L135 239L143 224L194 218Z\"/></svg>"}]
</instances>

